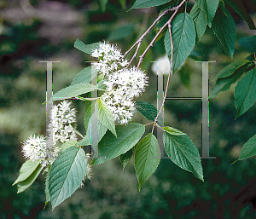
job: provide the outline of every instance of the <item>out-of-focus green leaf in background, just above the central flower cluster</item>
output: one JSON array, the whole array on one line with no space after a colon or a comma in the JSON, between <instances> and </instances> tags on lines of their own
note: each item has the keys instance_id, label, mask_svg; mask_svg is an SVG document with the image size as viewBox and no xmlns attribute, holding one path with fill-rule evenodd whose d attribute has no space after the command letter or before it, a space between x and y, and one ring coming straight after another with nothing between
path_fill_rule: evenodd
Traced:
<instances>
[{"instance_id":1,"label":"out-of-focus green leaf in background, just above the central flower cluster","mask_svg":"<svg viewBox=\"0 0 256 219\"><path fill-rule=\"evenodd\" d=\"M118 29L113 30L108 36L108 41L122 40L131 35L134 30L134 24L121 26Z\"/></svg>"}]
</instances>

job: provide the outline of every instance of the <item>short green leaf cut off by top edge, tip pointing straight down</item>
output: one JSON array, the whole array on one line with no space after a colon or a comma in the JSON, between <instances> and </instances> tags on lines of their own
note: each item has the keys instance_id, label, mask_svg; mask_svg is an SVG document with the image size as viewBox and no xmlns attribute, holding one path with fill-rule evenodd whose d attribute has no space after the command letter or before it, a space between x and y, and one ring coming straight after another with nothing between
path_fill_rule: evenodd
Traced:
<instances>
[{"instance_id":1,"label":"short green leaf cut off by top edge, tip pointing straight down","mask_svg":"<svg viewBox=\"0 0 256 219\"><path fill-rule=\"evenodd\" d=\"M195 3L207 14L207 23L211 27L212 20L218 9L219 0L195 0Z\"/></svg>"}]
</instances>

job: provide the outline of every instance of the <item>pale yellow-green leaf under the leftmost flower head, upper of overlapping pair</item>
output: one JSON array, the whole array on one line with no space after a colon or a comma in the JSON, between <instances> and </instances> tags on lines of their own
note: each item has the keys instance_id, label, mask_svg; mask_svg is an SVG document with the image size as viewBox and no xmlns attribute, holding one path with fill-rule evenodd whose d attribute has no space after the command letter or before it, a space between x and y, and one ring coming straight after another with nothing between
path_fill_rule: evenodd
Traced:
<instances>
[{"instance_id":1,"label":"pale yellow-green leaf under the leftmost flower head, upper of overlapping pair","mask_svg":"<svg viewBox=\"0 0 256 219\"><path fill-rule=\"evenodd\" d=\"M36 160L32 162L30 159L26 160L24 164L22 164L20 168L20 176L16 179L13 186L18 182L25 181L32 173L37 169L38 165L40 164L41 160Z\"/></svg>"}]
</instances>

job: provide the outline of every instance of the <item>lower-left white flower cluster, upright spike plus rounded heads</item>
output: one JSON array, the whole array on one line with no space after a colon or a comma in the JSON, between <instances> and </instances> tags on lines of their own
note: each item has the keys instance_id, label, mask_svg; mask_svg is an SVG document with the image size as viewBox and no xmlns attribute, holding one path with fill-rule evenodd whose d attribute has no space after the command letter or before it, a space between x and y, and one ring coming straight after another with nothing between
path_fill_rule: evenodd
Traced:
<instances>
[{"instance_id":1,"label":"lower-left white flower cluster, upright spike plus rounded heads","mask_svg":"<svg viewBox=\"0 0 256 219\"><path fill-rule=\"evenodd\" d=\"M77 140L73 131L72 123L76 122L75 109L70 108L71 102L62 101L52 108L50 112L49 139L43 135L31 135L22 146L24 157L36 161L41 159L43 167L53 164L55 158L60 153L60 148L56 146L56 142L64 143L69 140Z\"/></svg>"}]
</instances>

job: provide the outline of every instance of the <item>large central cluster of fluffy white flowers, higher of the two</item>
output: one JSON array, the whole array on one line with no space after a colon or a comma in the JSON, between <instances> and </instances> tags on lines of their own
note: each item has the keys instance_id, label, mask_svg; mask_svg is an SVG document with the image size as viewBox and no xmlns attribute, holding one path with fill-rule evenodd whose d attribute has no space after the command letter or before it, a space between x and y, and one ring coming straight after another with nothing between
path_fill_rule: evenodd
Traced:
<instances>
[{"instance_id":1,"label":"large central cluster of fluffy white flowers, higher of the two","mask_svg":"<svg viewBox=\"0 0 256 219\"><path fill-rule=\"evenodd\" d=\"M95 67L104 75L104 84L107 85L102 101L113 112L114 121L128 124L135 111L132 99L143 93L148 77L135 66L126 68L127 61L122 59L120 50L109 43L100 43L99 49L94 49L92 56L98 58Z\"/></svg>"}]
</instances>

